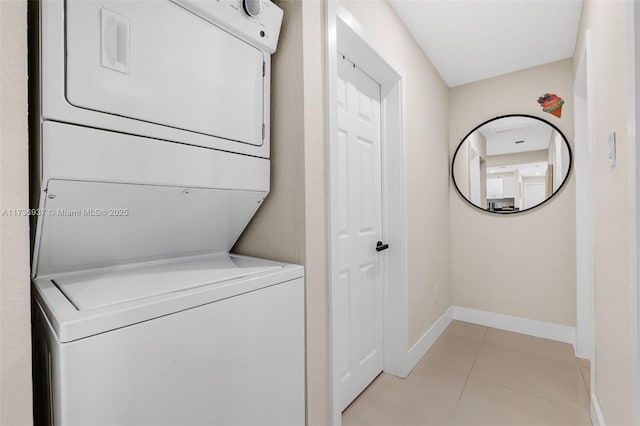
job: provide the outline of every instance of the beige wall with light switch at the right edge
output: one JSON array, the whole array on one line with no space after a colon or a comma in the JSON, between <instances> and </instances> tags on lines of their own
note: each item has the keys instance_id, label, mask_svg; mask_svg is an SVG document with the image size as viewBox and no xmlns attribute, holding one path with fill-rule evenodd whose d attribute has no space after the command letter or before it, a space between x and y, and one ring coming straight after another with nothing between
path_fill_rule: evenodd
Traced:
<instances>
[{"instance_id":1,"label":"beige wall with light switch at the right edge","mask_svg":"<svg viewBox=\"0 0 640 426\"><path fill-rule=\"evenodd\" d=\"M636 5L637 6L637 5ZM607 425L631 424L631 277L628 218L629 56L625 2L586 1L575 66L587 29L592 39L595 192L595 394ZM637 50L636 50L637 52ZM637 54L637 53L636 53ZM616 132L617 165L607 138ZM635 401L638 404L638 401Z\"/></svg>"}]
</instances>

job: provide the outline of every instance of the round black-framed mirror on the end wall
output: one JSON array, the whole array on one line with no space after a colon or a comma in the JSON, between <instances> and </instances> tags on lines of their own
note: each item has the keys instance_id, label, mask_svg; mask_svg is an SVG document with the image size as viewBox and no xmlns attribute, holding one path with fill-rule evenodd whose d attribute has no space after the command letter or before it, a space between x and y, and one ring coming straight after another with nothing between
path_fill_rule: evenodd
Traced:
<instances>
[{"instance_id":1,"label":"round black-framed mirror on the end wall","mask_svg":"<svg viewBox=\"0 0 640 426\"><path fill-rule=\"evenodd\" d=\"M557 194L571 162L560 129L538 117L514 114L469 132L453 155L451 175L458 193L474 207L518 213Z\"/></svg>"}]
</instances>

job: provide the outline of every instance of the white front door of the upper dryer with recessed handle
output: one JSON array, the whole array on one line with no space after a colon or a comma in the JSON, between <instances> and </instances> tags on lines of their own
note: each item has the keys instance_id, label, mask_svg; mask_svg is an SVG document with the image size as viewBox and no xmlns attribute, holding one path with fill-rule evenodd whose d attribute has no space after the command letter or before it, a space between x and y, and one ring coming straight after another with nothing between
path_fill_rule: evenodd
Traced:
<instances>
[{"instance_id":1,"label":"white front door of the upper dryer with recessed handle","mask_svg":"<svg viewBox=\"0 0 640 426\"><path fill-rule=\"evenodd\" d=\"M264 54L169 1L66 2L71 104L262 145Z\"/></svg>"}]
</instances>

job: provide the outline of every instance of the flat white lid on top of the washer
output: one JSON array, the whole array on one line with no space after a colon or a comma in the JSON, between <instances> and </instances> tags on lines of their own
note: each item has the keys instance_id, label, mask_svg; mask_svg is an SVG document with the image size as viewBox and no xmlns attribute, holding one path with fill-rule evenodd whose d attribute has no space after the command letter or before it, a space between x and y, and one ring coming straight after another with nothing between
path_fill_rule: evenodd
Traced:
<instances>
[{"instance_id":1,"label":"flat white lid on top of the washer","mask_svg":"<svg viewBox=\"0 0 640 426\"><path fill-rule=\"evenodd\" d=\"M76 309L84 311L247 277L283 266L225 253L198 260L177 259L76 272L51 281Z\"/></svg>"}]
</instances>

